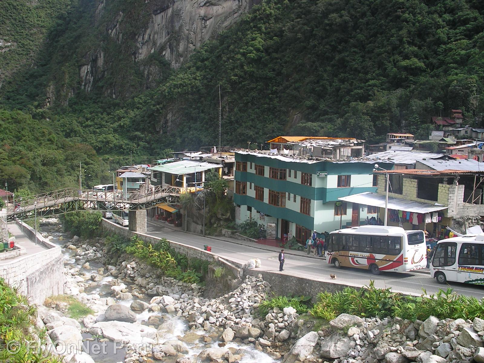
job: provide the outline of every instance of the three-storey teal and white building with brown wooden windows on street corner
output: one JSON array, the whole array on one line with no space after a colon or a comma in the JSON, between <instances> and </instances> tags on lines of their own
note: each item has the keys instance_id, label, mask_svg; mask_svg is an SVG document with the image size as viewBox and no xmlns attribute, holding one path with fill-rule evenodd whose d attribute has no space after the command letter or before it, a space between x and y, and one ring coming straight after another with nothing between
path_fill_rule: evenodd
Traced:
<instances>
[{"instance_id":1,"label":"three-storey teal and white building with brown wooden windows on street corner","mask_svg":"<svg viewBox=\"0 0 484 363\"><path fill-rule=\"evenodd\" d=\"M377 191L375 161L333 160L260 151L235 152L235 218L253 218L278 239L364 224L377 208L338 200ZM378 161L384 169L393 163Z\"/></svg>"}]
</instances>

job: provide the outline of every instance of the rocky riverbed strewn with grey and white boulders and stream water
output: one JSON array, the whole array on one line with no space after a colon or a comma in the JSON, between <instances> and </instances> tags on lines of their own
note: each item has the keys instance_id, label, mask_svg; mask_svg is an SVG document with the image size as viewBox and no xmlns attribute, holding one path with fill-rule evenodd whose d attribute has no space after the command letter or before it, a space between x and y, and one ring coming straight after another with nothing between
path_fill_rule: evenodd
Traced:
<instances>
[{"instance_id":1,"label":"rocky riverbed strewn with grey and white boulders and stream water","mask_svg":"<svg viewBox=\"0 0 484 363\"><path fill-rule=\"evenodd\" d=\"M68 238L54 222L43 229L64 246L65 293L94 311L76 321L64 316L66 302L47 301L39 309L51 339L61 341L59 349L83 345L90 353L67 355L65 363L484 363L479 318L409 321L342 314L316 332L292 307L257 317L271 289L260 275L207 298L204 287L158 276L129 256L109 265L102 239ZM90 345L98 343L106 352L92 351Z\"/></svg>"}]
</instances>

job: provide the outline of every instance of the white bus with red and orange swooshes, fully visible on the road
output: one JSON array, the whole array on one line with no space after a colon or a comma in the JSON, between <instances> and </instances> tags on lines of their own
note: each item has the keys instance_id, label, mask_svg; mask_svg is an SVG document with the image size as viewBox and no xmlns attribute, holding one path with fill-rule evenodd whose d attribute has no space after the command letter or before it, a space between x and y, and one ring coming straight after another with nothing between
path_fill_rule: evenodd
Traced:
<instances>
[{"instance_id":1,"label":"white bus with red and orange swooshes, fully visible on the road","mask_svg":"<svg viewBox=\"0 0 484 363\"><path fill-rule=\"evenodd\" d=\"M412 271L427 267L425 235L402 227L360 226L329 235L326 261L336 268L356 267L380 271Z\"/></svg>"}]
</instances>

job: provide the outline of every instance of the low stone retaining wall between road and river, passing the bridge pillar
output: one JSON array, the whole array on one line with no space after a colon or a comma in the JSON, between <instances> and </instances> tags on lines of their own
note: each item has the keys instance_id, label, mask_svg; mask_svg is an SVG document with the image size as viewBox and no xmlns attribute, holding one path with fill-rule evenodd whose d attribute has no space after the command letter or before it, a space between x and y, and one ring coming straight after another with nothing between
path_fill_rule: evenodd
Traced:
<instances>
[{"instance_id":1,"label":"low stone retaining wall between road and river, passing the bridge pillar","mask_svg":"<svg viewBox=\"0 0 484 363\"><path fill-rule=\"evenodd\" d=\"M120 225L118 225L114 222L108 221L104 218L103 218L101 226L105 230L108 230L108 231L111 231L111 232L116 233L118 235L124 236L128 239L133 237L133 236L136 236L140 240L142 240L144 242L151 243L151 244L155 244L158 241L160 241L160 238L153 237L153 236L150 236L150 235L145 234L145 233L130 231L128 228L121 227ZM223 258L218 257L217 255L215 255L212 252L205 251L205 250L202 250L202 249L197 248L197 247L189 246L187 244L169 241L169 240L168 240L168 242L170 243L170 247L173 248L178 253L186 255L187 257L199 258L199 259L204 260L204 261L217 263L220 266L222 266L225 269L232 272L232 274L236 278L242 277L242 271L243 271L243 267L244 267L244 265L242 265L242 264L232 262L232 261L229 262L229 261L227 261Z\"/></svg>"}]
</instances>

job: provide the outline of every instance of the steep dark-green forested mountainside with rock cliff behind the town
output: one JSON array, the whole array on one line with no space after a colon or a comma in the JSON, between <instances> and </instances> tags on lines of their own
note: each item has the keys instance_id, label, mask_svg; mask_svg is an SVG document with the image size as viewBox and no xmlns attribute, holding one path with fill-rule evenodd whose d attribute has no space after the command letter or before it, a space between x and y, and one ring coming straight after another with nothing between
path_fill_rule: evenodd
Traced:
<instances>
[{"instance_id":1,"label":"steep dark-green forested mountainside with rock cliff behind the town","mask_svg":"<svg viewBox=\"0 0 484 363\"><path fill-rule=\"evenodd\" d=\"M180 4L73 0L39 42L37 59L10 66L16 72L5 77L1 105L105 161L218 144L219 85L224 145L280 134L424 136L429 117L451 108L482 126L482 1L265 0L237 8L226 0L177 11ZM0 166L19 163L3 155Z\"/></svg>"}]
</instances>

